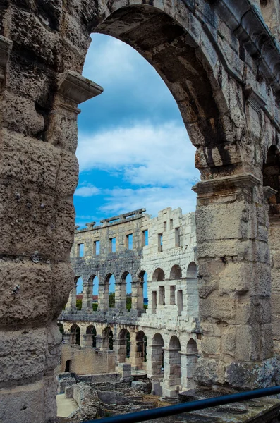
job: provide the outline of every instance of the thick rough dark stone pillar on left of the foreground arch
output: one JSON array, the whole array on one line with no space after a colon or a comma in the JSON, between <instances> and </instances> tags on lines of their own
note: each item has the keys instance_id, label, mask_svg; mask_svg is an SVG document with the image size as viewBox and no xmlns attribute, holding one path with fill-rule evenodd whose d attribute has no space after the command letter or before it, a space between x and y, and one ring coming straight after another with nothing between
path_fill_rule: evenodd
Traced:
<instances>
[{"instance_id":1,"label":"thick rough dark stone pillar on left of the foreground arch","mask_svg":"<svg viewBox=\"0 0 280 423\"><path fill-rule=\"evenodd\" d=\"M74 277L69 255L78 182L77 105L102 90L71 71L56 75L63 64L49 47L54 35L35 14L14 8L6 18L5 33L20 39L22 51L37 49L37 59L23 54L18 61L18 47L11 49L11 41L0 37L0 255L5 257L0 263L0 419L53 423L54 369L61 353L56 320ZM23 36L31 26L37 27L36 47ZM42 61L39 51L47 53Z\"/></svg>"}]
</instances>

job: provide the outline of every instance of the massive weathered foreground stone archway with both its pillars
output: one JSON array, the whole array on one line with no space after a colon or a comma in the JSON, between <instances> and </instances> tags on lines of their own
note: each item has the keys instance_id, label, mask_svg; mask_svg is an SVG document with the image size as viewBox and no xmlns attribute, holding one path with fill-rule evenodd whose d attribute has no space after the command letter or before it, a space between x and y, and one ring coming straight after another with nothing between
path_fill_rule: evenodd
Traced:
<instances>
[{"instance_id":1,"label":"massive weathered foreground stone archway with both its pillars","mask_svg":"<svg viewBox=\"0 0 280 423\"><path fill-rule=\"evenodd\" d=\"M272 271L269 261L279 242L279 2L6 0L0 21L1 421L56 415L77 105L102 92L81 76L91 32L150 61L197 148L197 381L273 384L273 365L269 380L262 368L280 338L277 244Z\"/></svg>"}]
</instances>

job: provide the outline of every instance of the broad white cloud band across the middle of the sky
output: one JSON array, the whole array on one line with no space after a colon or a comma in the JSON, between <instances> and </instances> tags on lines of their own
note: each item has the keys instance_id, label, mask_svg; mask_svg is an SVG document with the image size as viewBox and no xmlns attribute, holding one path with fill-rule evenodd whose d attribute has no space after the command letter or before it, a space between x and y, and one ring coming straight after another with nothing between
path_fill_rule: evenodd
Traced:
<instances>
[{"instance_id":1,"label":"broad white cloud band across the middle of the sky","mask_svg":"<svg viewBox=\"0 0 280 423\"><path fill-rule=\"evenodd\" d=\"M137 185L178 185L199 176L195 147L178 123L157 127L136 123L130 128L80 135L77 156L80 171L118 171Z\"/></svg>"}]
</instances>

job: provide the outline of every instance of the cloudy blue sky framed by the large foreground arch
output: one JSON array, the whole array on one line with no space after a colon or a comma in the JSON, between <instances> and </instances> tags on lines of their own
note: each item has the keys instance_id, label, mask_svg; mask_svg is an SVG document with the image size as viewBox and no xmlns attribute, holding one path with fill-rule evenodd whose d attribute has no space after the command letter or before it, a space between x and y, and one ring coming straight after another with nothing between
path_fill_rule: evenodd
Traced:
<instances>
[{"instance_id":1,"label":"cloudy blue sky framed by the large foreground arch","mask_svg":"<svg viewBox=\"0 0 280 423\"><path fill-rule=\"evenodd\" d=\"M145 207L195 210L199 172L178 106L154 68L133 48L92 35L83 75L104 88L80 105L76 223Z\"/></svg>"}]
</instances>

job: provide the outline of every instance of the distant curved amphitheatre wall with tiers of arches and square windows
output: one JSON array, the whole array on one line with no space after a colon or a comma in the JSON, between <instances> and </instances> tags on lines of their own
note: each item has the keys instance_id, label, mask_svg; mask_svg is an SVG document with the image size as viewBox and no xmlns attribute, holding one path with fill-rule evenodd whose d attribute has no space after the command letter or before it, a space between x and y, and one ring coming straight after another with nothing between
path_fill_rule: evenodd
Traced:
<instances>
[{"instance_id":1,"label":"distant curved amphitheatre wall with tiers of arches and square windows","mask_svg":"<svg viewBox=\"0 0 280 423\"><path fill-rule=\"evenodd\" d=\"M176 396L178 391L193 387L198 353L195 214L182 215L181 209L168 208L151 219L144 211L105 219L100 226L87 223L87 229L75 231L71 254L74 287L59 321L63 324L64 342L84 347L74 348L74 355L80 353L81 364L78 367L71 362L71 371L96 372L97 363L93 361L92 372L81 369L85 348L90 354L95 346L97 355L99 351L114 348L116 364L130 362L134 371L144 369L152 379L154 393ZM130 312L126 309L128 274L132 279ZM143 309L144 274L147 274L147 312ZM116 292L114 307L110 308L111 275L116 281ZM77 311L75 281L79 277L83 278L83 307ZM96 278L99 279L98 309L93 312L92 287ZM62 371L66 367L69 371L66 365L69 354L69 348L63 345ZM96 358L98 361L100 357Z\"/></svg>"}]
</instances>

